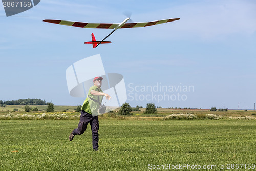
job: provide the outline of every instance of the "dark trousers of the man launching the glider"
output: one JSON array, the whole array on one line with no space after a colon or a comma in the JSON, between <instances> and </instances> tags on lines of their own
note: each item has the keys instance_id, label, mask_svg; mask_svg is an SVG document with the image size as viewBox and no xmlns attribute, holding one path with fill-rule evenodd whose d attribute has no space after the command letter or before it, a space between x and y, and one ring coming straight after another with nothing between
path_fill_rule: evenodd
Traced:
<instances>
[{"instance_id":1,"label":"dark trousers of the man launching the glider","mask_svg":"<svg viewBox=\"0 0 256 171\"><path fill-rule=\"evenodd\" d=\"M92 130L92 137L93 137L93 149L97 149L99 147L99 120L98 116L92 116L91 114L87 113L86 111L82 110L80 122L76 129L73 130L73 135L81 135L86 131L87 125L90 123L91 130Z\"/></svg>"}]
</instances>

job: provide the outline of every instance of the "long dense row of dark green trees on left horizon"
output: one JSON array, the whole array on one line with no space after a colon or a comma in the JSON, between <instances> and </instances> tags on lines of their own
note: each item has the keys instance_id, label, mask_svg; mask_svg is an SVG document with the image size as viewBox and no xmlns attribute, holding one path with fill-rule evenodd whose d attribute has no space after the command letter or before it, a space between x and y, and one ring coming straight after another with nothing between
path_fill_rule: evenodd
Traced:
<instances>
[{"instance_id":1,"label":"long dense row of dark green trees on left horizon","mask_svg":"<svg viewBox=\"0 0 256 171\"><path fill-rule=\"evenodd\" d=\"M41 99L0 100L0 105L47 105L47 102Z\"/></svg>"}]
</instances>

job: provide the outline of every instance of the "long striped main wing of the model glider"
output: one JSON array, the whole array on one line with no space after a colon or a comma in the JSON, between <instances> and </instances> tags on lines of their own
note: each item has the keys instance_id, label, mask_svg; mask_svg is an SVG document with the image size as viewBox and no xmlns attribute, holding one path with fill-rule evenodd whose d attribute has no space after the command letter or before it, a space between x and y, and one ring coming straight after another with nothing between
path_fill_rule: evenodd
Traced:
<instances>
[{"instance_id":1,"label":"long striped main wing of the model glider","mask_svg":"<svg viewBox=\"0 0 256 171\"><path fill-rule=\"evenodd\" d=\"M145 22L145 23L125 23L121 27L121 29L158 25L162 23L173 22L179 19L180 18L164 19L164 20L158 20L154 22ZM44 22L55 23L55 24L66 25L66 26L74 26L74 27L81 27L81 28L96 28L96 29L114 29L119 25L119 23L82 23L82 22L70 22L70 21L53 20L53 19L45 19Z\"/></svg>"}]
</instances>

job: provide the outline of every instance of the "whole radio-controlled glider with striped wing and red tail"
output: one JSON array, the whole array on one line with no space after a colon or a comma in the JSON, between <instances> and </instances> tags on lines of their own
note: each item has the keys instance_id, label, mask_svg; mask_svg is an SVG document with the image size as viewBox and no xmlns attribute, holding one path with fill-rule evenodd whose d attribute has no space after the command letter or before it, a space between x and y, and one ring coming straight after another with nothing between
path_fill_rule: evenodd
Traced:
<instances>
[{"instance_id":1,"label":"whole radio-controlled glider with striped wing and red tail","mask_svg":"<svg viewBox=\"0 0 256 171\"><path fill-rule=\"evenodd\" d=\"M82 23L82 22L70 22L70 21L53 20L53 19L45 19L44 22L55 23L55 24L66 25L66 26L81 27L81 28L113 29L113 31L108 36L106 36L102 41L96 41L92 33L92 41L85 42L85 44L93 44L93 48L96 48L100 44L111 43L111 41L104 41L104 40L108 38L112 33L114 33L117 29L153 26L153 25L158 25L162 23L174 22L176 20L179 20L180 18L164 19L164 20L158 20L154 22L144 22L144 23L126 23L128 22L129 19L130 18L126 18L121 23Z\"/></svg>"}]
</instances>

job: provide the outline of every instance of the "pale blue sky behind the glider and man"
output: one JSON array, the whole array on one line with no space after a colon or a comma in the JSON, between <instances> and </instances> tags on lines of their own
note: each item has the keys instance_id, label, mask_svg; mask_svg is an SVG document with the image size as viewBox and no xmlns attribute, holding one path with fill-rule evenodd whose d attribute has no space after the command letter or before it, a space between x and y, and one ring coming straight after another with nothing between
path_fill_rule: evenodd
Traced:
<instances>
[{"instance_id":1,"label":"pale blue sky behind the glider and man","mask_svg":"<svg viewBox=\"0 0 256 171\"><path fill-rule=\"evenodd\" d=\"M120 23L181 18L166 24L118 29L112 44L92 49L110 29L83 29L44 19ZM256 3L254 1L50 1L6 17L0 7L0 100L40 98L55 105L82 104L69 95L65 72L100 54L106 73L124 77L127 102L162 107L253 109L256 102ZM84 66L86 68L86 66ZM97 65L95 66L97 69ZM129 86L130 85L130 86ZM193 91L143 91L156 85ZM134 90L137 86L136 90ZM135 94L152 100L135 100ZM154 95L176 97L155 100ZM183 100L178 100L178 93ZM155 96L155 97L156 97ZM149 98L148 98L149 99Z\"/></svg>"}]
</instances>

